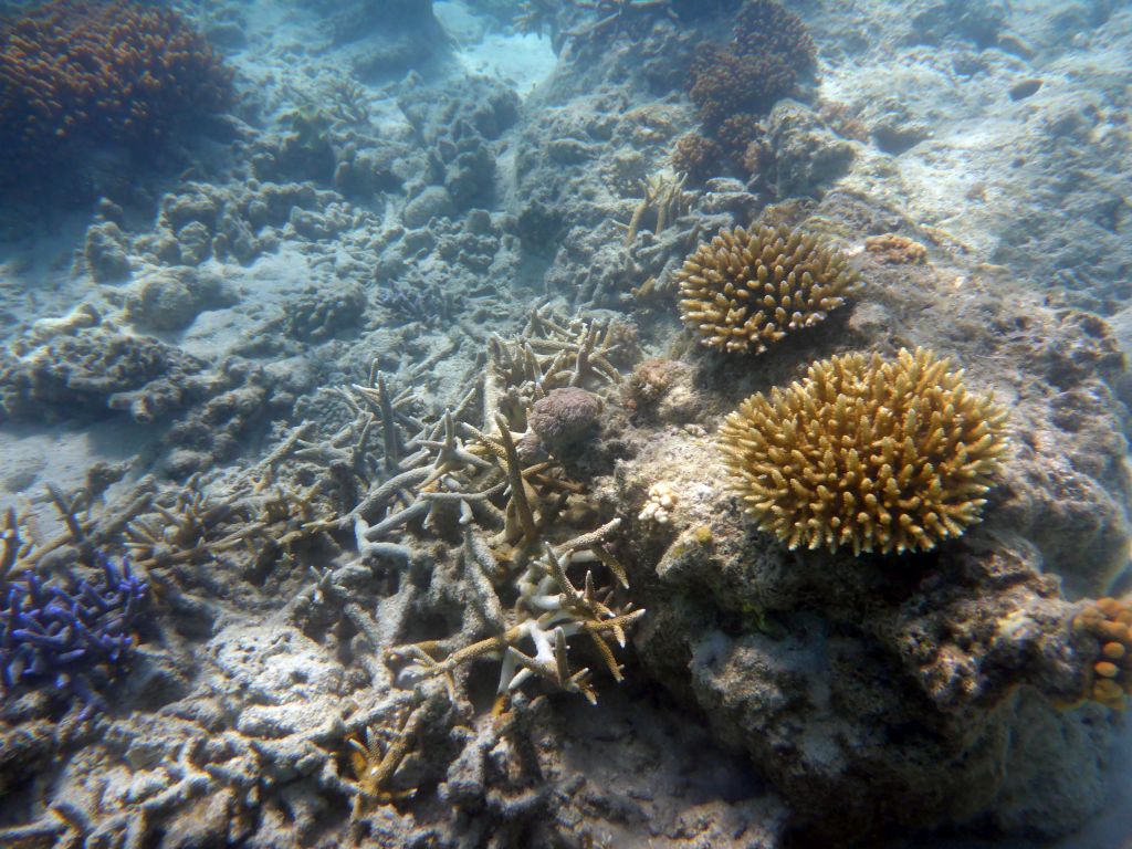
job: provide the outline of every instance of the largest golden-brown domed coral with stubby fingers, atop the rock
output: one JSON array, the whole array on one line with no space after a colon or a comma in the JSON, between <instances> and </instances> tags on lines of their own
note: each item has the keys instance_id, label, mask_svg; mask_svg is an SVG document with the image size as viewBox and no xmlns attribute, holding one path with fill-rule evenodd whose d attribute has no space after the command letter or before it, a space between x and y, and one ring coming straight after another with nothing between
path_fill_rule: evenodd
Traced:
<instances>
[{"instance_id":1,"label":"largest golden-brown domed coral with stubby fingers, atop the rock","mask_svg":"<svg viewBox=\"0 0 1132 849\"><path fill-rule=\"evenodd\" d=\"M834 357L727 417L722 449L760 528L791 549L926 550L980 520L1006 411L931 351Z\"/></svg>"}]
</instances>

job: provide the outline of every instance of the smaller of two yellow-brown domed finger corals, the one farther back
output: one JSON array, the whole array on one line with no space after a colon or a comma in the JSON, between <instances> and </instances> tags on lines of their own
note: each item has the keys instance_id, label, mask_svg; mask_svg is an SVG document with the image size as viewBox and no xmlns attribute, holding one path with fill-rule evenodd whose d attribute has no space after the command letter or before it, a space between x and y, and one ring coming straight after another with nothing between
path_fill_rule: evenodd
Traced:
<instances>
[{"instance_id":1,"label":"smaller of two yellow-brown domed finger corals, the one farther back","mask_svg":"<svg viewBox=\"0 0 1132 849\"><path fill-rule=\"evenodd\" d=\"M703 344L762 353L844 303L857 273L843 254L788 226L723 230L676 273L684 323Z\"/></svg>"}]
</instances>

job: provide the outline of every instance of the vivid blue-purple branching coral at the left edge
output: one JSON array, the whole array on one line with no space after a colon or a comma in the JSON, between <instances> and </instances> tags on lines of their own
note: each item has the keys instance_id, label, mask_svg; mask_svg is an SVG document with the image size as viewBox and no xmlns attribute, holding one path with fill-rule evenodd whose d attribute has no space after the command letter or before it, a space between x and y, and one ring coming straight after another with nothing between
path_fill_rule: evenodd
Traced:
<instances>
[{"instance_id":1,"label":"vivid blue-purple branching coral at the left edge","mask_svg":"<svg viewBox=\"0 0 1132 849\"><path fill-rule=\"evenodd\" d=\"M114 677L134 648L148 585L128 560L98 557L94 577L60 586L27 571L5 581L0 607L0 689L51 683L84 702L82 717L103 706L100 684Z\"/></svg>"}]
</instances>

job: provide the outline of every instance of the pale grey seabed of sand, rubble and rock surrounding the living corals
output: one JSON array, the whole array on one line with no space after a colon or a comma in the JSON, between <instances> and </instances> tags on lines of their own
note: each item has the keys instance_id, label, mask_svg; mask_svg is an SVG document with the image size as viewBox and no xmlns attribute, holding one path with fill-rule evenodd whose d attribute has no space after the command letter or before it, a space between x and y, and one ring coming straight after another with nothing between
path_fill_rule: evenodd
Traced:
<instances>
[{"instance_id":1,"label":"pale grey seabed of sand, rubble and rock surrounding the living corals","mask_svg":"<svg viewBox=\"0 0 1132 849\"><path fill-rule=\"evenodd\" d=\"M23 395L19 414L0 421L0 507L26 516L41 542L54 539L66 531L46 484L77 491L96 464L118 480L91 506L93 522L109 522L143 490L175 514L185 486L237 507L188 539L166 531L161 551L126 547L162 588L153 616L164 620L142 634L138 657L92 722L14 697L0 734L9 752L19 735L32 743L15 756L0 749L0 844L838 846L838 815L799 816L799 806L824 811L855 788L871 787L861 791L869 797L883 795L883 782L895 792L907 781L932 800L924 817L881 815L847 846L1132 846L1132 732L1121 714L1054 707L1063 680L1050 683L1056 676L1034 652L1003 654L1000 637L978 636L967 620L925 626L941 645L960 646L978 681L969 698L941 696L941 672L924 671L935 661L917 669L900 643L909 619L931 618L931 591L909 589L923 592L920 612L893 612L891 631L872 631L847 612L860 588L840 595L843 563L804 563L764 535L744 537L743 521L721 506L718 461L705 460L722 413L796 379L808 361L931 345L1015 410L1011 468L1021 471L992 495L974 554L949 543L912 568L947 575L949 558L998 556L1001 546L1024 577L1010 589L986 585L988 616L1040 608L1034 621L1047 625L1081 599L1126 590L1129 5L787 3L809 28L817 68L796 103L765 119L773 178L689 185L686 214L660 233L645 224L628 247L615 222L629 221L643 180L696 127L683 83L689 45L726 38L726 10L567 38L558 55L546 35L516 32L518 5L498 0L435 2L438 27L420 41L358 12L366 3L175 6L235 69L241 102L223 128L187 138L153 170L123 179L111 164L95 178L110 198L97 211L83 201L43 217L6 215L0 333L9 353L0 365L11 381L5 397ZM1031 78L1041 87L1012 98L1011 87ZM346 101L353 111L324 114L308 145L295 115ZM822 229L867 285L849 318L815 332L812 349L791 340L763 360L724 363L687 342L670 291L649 300L631 289L652 276L663 288L701 228L746 225L767 206ZM175 247L201 232L206 247ZM884 232L925 245L926 263L872 260L865 238ZM128 272L115 274L121 258ZM412 309L391 307L383 293L392 291L424 297ZM345 429L371 410L349 387L366 385L377 361L396 391L415 393L404 408L412 421L431 427L482 384L489 337L523 332L534 307L563 323L632 325L621 336L632 344L611 358L626 383L649 358L678 361L687 374L677 370L670 403L645 419L621 389L588 384L604 397L601 447L566 460L591 488L591 526L621 517L624 539L614 544L631 561L629 595L643 588L637 607L649 612L619 652L627 680L614 683L588 658L597 707L533 680L500 720L490 714L491 662L461 672L448 705L438 680L413 681L383 660L395 645L475 633L477 621L461 618L475 598L462 583L471 555L451 522L435 531L419 520L380 540L411 549L411 569L400 554L358 550L357 505L389 474L376 458L380 438L366 449L375 458L344 460L357 436ZM97 318L53 321L83 309ZM145 336L161 342L164 372L93 391L17 387L22 358L58 355L62 349L42 346L95 333L105 334L95 354L83 349L95 371L108 340ZM177 350L183 361L173 361ZM1072 368L1047 368L1062 354ZM1067 413L1058 413L1074 405L1084 421L1063 424ZM474 397L461 411L488 406ZM379 420L376 408L370 418ZM273 455L303 422L306 454ZM335 432L345 437L320 453ZM411 436L406 421L403 438ZM1022 457L1022 445L1036 447ZM269 468L265 457L274 457ZM705 463L714 463L710 474L697 478ZM263 490L246 482L265 475L302 494L281 508L283 518L255 513L266 509ZM334 482L307 489L319 475ZM679 507L670 524L650 525L641 512L662 479L677 483ZM395 512L389 501L371 525ZM306 508L312 515L300 515ZM140 515L173 525L169 512ZM319 522L320 531L303 530ZM809 589L787 586L769 566L782 585L765 593L754 573L736 577L729 567L726 578L705 578L710 564L672 578L676 548L704 526L721 549L747 539L771 551L752 559L792 564ZM209 549L245 532L250 551ZM272 546L271 534L289 542ZM115 556L126 550L121 538L103 542ZM179 557L178 546L200 556ZM411 580L398 581L398 569ZM865 584L891 574L883 561L867 569ZM979 606L980 586L970 578L968 607ZM732 604L728 593L741 598ZM765 632L749 625L762 601L777 621ZM694 610L669 615L668 602ZM1043 645L1064 642L1049 628ZM893 681L869 695L815 660L849 645ZM744 651L747 674L769 675L773 687L752 683L740 695L734 678L713 677L713 664L726 666L719 659ZM1017 681L1003 657L1027 659ZM849 681L830 685L841 701L822 701L825 685L815 681L825 676ZM799 693L809 707L798 706ZM849 693L875 700L875 711ZM351 814L346 738L395 728L405 710L423 719L394 787L420 791ZM921 720L942 748L886 748ZM983 743L957 730L984 723ZM1026 739L1027 728L1048 745ZM978 761L1000 744L995 766L964 778L949 762L946 779L933 783L931 758L941 751ZM872 747L890 763L846 756L841 769L838 746ZM872 767L883 778L871 778ZM976 788L972 800L950 806L963 784ZM917 798L894 804L914 808ZM884 807L876 805L874 814ZM817 825L799 831L797 820Z\"/></svg>"}]
</instances>

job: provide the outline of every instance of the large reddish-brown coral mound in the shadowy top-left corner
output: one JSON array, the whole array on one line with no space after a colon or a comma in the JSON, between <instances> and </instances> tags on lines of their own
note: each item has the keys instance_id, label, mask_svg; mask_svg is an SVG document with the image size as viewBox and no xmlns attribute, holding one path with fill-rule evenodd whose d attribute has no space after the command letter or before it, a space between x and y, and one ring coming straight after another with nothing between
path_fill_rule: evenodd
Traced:
<instances>
[{"instance_id":1,"label":"large reddish-brown coral mound in the shadowy top-left corner","mask_svg":"<svg viewBox=\"0 0 1132 849\"><path fill-rule=\"evenodd\" d=\"M231 72L177 12L51 0L0 29L0 185L89 142L147 151L225 108Z\"/></svg>"}]
</instances>

